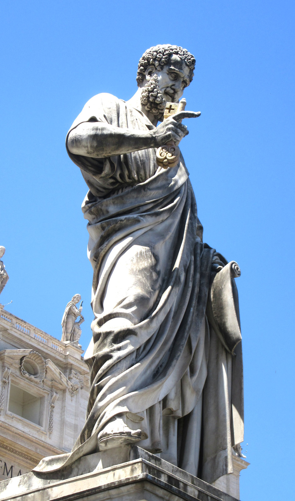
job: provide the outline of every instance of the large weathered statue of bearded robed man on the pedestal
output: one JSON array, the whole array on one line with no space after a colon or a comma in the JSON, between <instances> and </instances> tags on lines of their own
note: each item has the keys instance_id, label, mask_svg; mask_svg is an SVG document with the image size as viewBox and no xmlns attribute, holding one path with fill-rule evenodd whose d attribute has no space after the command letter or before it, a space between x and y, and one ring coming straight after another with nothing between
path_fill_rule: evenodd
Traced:
<instances>
[{"instance_id":1,"label":"large weathered statue of bearded robed man on the pedestal","mask_svg":"<svg viewBox=\"0 0 295 501\"><path fill-rule=\"evenodd\" d=\"M139 61L135 95L94 96L68 133L89 188L92 386L72 453L43 460L38 471L124 443L210 483L233 471L232 447L243 440L240 272L202 241L182 156L169 169L156 163L158 147L188 134L181 120L199 115L163 121L194 65L181 47L152 47Z\"/></svg>"}]
</instances>

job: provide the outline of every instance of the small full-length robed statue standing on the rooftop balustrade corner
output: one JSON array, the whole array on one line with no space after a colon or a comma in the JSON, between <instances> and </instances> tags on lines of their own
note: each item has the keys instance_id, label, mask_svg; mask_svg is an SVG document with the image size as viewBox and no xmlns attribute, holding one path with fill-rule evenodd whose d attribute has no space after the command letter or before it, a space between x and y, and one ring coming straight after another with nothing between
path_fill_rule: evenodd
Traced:
<instances>
[{"instance_id":1,"label":"small full-length robed statue standing on the rooftop balustrade corner","mask_svg":"<svg viewBox=\"0 0 295 501\"><path fill-rule=\"evenodd\" d=\"M75 294L72 300L67 304L63 319L62 319L62 341L79 341L81 336L80 325L84 322L84 317L81 315L82 303L80 308L77 308L77 303L81 300L80 294ZM80 319L77 321L77 318Z\"/></svg>"}]
</instances>

